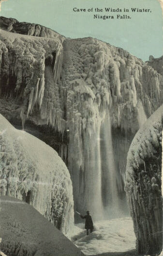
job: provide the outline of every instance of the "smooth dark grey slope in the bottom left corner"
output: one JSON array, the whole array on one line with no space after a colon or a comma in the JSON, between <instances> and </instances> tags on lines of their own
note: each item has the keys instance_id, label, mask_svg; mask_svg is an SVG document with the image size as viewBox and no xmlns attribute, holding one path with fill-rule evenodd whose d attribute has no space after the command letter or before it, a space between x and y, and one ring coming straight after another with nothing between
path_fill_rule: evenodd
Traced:
<instances>
[{"instance_id":1,"label":"smooth dark grey slope in the bottom left corner","mask_svg":"<svg viewBox=\"0 0 163 256\"><path fill-rule=\"evenodd\" d=\"M55 226L32 206L0 197L0 249L7 256L82 256Z\"/></svg>"}]
</instances>

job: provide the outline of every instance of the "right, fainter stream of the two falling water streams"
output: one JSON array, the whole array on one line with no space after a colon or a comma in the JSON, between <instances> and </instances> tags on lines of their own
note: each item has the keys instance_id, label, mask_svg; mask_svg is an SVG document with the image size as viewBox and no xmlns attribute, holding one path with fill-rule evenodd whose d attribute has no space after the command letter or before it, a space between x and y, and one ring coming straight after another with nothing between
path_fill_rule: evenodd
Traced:
<instances>
[{"instance_id":1,"label":"right, fainter stream of the two falling water streams","mask_svg":"<svg viewBox=\"0 0 163 256\"><path fill-rule=\"evenodd\" d=\"M110 113L106 112L101 126L101 167L102 198L106 217L113 217L119 212L117 174L114 162Z\"/></svg>"}]
</instances>

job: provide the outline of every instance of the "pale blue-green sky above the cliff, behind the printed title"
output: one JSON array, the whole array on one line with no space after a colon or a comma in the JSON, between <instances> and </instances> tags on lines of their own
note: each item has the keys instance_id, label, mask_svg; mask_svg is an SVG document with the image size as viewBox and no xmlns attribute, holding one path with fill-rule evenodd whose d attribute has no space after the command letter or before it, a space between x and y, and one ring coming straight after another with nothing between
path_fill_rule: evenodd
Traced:
<instances>
[{"instance_id":1,"label":"pale blue-green sky above the cliff, behind the printed title","mask_svg":"<svg viewBox=\"0 0 163 256\"><path fill-rule=\"evenodd\" d=\"M162 0L160 0L162 1ZM73 8L93 8L93 12L74 12ZM115 13L95 13L94 8L128 8L131 19L117 19ZM151 13L132 13L131 8ZM114 19L94 19L94 14L114 15ZM163 15L157 0L8 0L1 4L1 16L37 23L66 37L92 36L128 50L144 61L149 55L163 55Z\"/></svg>"}]
</instances>

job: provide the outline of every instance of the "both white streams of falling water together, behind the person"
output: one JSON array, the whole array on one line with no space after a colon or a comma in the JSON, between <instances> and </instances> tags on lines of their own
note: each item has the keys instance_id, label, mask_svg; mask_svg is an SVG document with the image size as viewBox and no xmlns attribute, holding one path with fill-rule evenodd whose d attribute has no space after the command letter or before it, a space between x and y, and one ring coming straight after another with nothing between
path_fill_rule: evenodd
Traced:
<instances>
[{"instance_id":1,"label":"both white streams of falling water together, behind the person","mask_svg":"<svg viewBox=\"0 0 163 256\"><path fill-rule=\"evenodd\" d=\"M96 131L91 134L86 131L83 135L85 163L84 172L80 172L84 184L81 199L85 198L85 204L82 208L89 209L95 220L121 215L117 182L119 176L115 168L111 128L110 112L106 111L102 120L99 120ZM80 174L79 184L82 183L82 175Z\"/></svg>"}]
</instances>

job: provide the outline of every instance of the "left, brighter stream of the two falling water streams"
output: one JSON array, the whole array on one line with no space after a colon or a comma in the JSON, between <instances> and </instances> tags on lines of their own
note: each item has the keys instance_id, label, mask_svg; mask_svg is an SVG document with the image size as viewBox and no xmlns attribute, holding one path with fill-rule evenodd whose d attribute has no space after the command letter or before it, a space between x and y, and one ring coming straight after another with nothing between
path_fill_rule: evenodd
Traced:
<instances>
[{"instance_id":1,"label":"left, brighter stream of the two falling water streams","mask_svg":"<svg viewBox=\"0 0 163 256\"><path fill-rule=\"evenodd\" d=\"M93 212L93 218L101 220L103 216L101 154L100 154L100 124L96 132L85 136L85 200L86 207ZM89 145L89 147L88 147Z\"/></svg>"}]
</instances>

